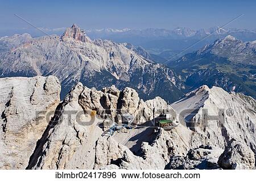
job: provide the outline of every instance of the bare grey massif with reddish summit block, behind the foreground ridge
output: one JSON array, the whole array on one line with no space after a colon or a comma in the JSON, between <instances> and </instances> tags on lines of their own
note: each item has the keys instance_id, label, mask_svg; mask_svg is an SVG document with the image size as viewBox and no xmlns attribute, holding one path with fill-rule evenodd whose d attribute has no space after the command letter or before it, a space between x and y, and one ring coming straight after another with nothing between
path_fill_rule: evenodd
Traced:
<instances>
[{"instance_id":1,"label":"bare grey massif with reddish summit block, behind the foreground ridge","mask_svg":"<svg viewBox=\"0 0 256 181\"><path fill-rule=\"evenodd\" d=\"M9 44L0 52L1 77L55 75L62 85L61 98L78 82L97 89L131 87L143 99L161 95L173 102L183 95L177 89L179 78L167 66L152 63L126 44L91 40L76 24L62 36L27 36L0 40Z\"/></svg>"}]
</instances>

